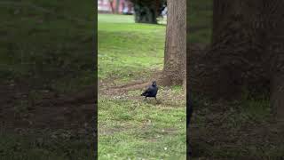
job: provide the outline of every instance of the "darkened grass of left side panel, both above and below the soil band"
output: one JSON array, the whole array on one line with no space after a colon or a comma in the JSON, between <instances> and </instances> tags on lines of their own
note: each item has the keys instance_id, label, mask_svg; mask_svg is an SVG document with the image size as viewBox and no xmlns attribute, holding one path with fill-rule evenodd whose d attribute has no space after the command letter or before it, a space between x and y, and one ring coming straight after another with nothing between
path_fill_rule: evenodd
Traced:
<instances>
[{"instance_id":1,"label":"darkened grass of left side panel, both above and below the soil band","mask_svg":"<svg viewBox=\"0 0 284 160\"><path fill-rule=\"evenodd\" d=\"M92 1L1 1L0 18L0 84L16 80L18 93L25 92L23 83L39 97L45 88L71 92L93 84ZM93 159L90 137L66 130L21 132L7 134L1 127L0 159Z\"/></svg>"}]
</instances>

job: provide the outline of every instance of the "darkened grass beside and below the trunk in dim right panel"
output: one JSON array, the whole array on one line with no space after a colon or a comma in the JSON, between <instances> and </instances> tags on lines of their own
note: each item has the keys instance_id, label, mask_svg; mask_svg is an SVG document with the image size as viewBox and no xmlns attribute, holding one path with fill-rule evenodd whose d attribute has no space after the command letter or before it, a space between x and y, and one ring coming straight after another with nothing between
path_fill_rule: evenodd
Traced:
<instances>
[{"instance_id":1,"label":"darkened grass beside and below the trunk in dim right panel","mask_svg":"<svg viewBox=\"0 0 284 160\"><path fill-rule=\"evenodd\" d=\"M189 3L190 43L209 44L212 0ZM243 92L241 100L212 101L195 95L191 137L193 159L276 159L283 157L283 136L272 121L268 96Z\"/></svg>"}]
</instances>

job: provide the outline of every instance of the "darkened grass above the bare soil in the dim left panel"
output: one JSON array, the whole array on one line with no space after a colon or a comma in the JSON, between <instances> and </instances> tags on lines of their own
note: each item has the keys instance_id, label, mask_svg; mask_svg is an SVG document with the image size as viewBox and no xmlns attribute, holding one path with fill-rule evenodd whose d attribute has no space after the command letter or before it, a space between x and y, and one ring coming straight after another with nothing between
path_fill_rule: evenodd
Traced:
<instances>
[{"instance_id":1,"label":"darkened grass above the bare soil in the dim left panel","mask_svg":"<svg viewBox=\"0 0 284 160\"><path fill-rule=\"evenodd\" d=\"M1 2L1 82L18 79L30 83L31 89L58 92L91 84L95 31L90 5L46 0Z\"/></svg>"}]
</instances>

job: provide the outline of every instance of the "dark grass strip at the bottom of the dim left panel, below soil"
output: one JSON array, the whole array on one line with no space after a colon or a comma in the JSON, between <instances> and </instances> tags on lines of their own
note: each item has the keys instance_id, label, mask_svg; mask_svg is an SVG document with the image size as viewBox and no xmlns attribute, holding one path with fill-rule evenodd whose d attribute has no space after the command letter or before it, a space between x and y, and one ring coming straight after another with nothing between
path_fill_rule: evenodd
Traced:
<instances>
[{"instance_id":1,"label":"dark grass strip at the bottom of the dim left panel, below soil","mask_svg":"<svg viewBox=\"0 0 284 160\"><path fill-rule=\"evenodd\" d=\"M44 131L33 135L0 132L0 136L0 159L4 160L91 160L94 158L91 139L74 139L66 131Z\"/></svg>"}]
</instances>

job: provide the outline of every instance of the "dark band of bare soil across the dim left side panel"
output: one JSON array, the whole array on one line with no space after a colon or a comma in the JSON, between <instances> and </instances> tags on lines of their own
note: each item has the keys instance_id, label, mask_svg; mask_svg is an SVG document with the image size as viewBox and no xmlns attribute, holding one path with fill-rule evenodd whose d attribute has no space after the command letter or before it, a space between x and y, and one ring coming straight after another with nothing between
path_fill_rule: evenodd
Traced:
<instances>
[{"instance_id":1,"label":"dark band of bare soil across the dim left side panel","mask_svg":"<svg viewBox=\"0 0 284 160\"><path fill-rule=\"evenodd\" d=\"M91 130L94 126L96 87L83 92L59 95L43 91L42 98L35 100L24 84L0 85L1 129L67 129ZM90 132L92 133L92 132Z\"/></svg>"}]
</instances>

